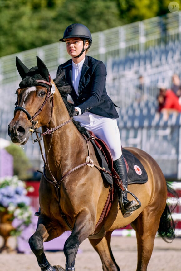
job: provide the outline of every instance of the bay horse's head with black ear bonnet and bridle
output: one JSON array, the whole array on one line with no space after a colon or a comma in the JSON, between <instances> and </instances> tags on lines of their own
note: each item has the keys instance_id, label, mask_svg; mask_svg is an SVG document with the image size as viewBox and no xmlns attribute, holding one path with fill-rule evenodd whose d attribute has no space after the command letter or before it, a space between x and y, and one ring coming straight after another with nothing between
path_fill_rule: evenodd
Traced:
<instances>
[{"instance_id":1,"label":"bay horse's head with black ear bonnet and bridle","mask_svg":"<svg viewBox=\"0 0 181 271\"><path fill-rule=\"evenodd\" d=\"M14 118L8 126L13 143L25 144L35 128L48 125L52 117L53 94L57 90L46 65L37 56L37 67L28 69L16 58L16 67L22 78L16 91ZM57 90L57 93L60 93Z\"/></svg>"}]
</instances>

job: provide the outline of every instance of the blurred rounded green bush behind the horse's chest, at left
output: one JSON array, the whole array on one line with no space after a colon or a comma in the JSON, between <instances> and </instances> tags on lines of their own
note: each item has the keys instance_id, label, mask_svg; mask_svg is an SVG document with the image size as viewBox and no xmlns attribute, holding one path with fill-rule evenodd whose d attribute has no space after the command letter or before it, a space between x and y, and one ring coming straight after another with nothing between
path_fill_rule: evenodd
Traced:
<instances>
[{"instance_id":1,"label":"blurred rounded green bush behind the horse's chest, at left","mask_svg":"<svg viewBox=\"0 0 181 271\"><path fill-rule=\"evenodd\" d=\"M31 176L29 170L32 169L32 166L22 148L19 145L11 144L5 149L13 156L14 175L17 175L20 180L28 179Z\"/></svg>"}]
</instances>

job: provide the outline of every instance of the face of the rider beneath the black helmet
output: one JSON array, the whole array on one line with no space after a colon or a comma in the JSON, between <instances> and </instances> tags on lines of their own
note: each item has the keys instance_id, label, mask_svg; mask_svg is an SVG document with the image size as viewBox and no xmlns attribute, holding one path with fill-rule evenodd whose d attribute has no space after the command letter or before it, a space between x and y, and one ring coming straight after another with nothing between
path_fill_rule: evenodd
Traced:
<instances>
[{"instance_id":1,"label":"face of the rider beneath the black helmet","mask_svg":"<svg viewBox=\"0 0 181 271\"><path fill-rule=\"evenodd\" d=\"M66 39L66 50L67 53L71 56L71 57L75 57L77 55L79 55L82 51L83 48L83 40L81 40L80 38L68 38ZM87 48L89 45L88 42L85 43L85 47ZM85 54L85 51L84 53Z\"/></svg>"}]
</instances>

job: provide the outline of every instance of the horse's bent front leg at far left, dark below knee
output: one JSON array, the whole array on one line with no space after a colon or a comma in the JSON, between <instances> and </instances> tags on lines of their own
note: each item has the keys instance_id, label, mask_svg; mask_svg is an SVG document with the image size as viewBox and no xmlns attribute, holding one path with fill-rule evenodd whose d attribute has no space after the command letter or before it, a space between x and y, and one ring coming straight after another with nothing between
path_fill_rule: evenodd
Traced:
<instances>
[{"instance_id":1,"label":"horse's bent front leg at far left, dark below knee","mask_svg":"<svg viewBox=\"0 0 181 271\"><path fill-rule=\"evenodd\" d=\"M63 269L63 267L60 265L51 266L51 264L46 259L43 249L43 242L46 241L47 238L51 240L54 237L50 238L49 232L47 231L45 225L38 224L37 230L29 239L30 248L37 258L39 267L43 271L65 271L65 269Z\"/></svg>"}]
</instances>

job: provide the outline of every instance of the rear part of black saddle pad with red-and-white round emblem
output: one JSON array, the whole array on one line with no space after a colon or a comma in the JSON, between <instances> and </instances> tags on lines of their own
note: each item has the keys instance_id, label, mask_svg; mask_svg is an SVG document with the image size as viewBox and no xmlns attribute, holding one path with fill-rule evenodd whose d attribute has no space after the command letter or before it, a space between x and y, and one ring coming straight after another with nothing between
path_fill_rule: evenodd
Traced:
<instances>
[{"instance_id":1,"label":"rear part of black saddle pad with red-and-white round emblem","mask_svg":"<svg viewBox=\"0 0 181 271\"><path fill-rule=\"evenodd\" d=\"M146 183L148 181L148 175L144 166L130 151L122 149L123 156L128 163L128 184L133 183Z\"/></svg>"}]
</instances>

